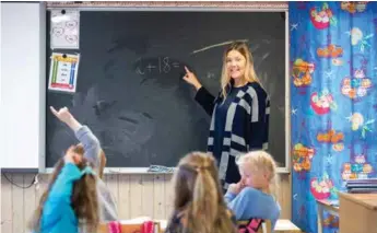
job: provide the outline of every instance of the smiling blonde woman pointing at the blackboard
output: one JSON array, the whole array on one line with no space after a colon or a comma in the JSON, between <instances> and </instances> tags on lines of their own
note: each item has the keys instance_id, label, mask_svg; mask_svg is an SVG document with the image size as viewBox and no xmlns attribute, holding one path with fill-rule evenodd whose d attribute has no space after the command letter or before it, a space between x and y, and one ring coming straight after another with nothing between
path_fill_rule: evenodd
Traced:
<instances>
[{"instance_id":1,"label":"smiling blonde woman pointing at the blackboard","mask_svg":"<svg viewBox=\"0 0 377 233\"><path fill-rule=\"evenodd\" d=\"M236 158L267 149L270 100L254 69L251 53L244 42L234 42L223 56L221 92L214 97L187 67L184 80L197 90L195 100L212 116L208 151L219 163L223 187L238 183ZM273 68L271 68L273 69Z\"/></svg>"}]
</instances>

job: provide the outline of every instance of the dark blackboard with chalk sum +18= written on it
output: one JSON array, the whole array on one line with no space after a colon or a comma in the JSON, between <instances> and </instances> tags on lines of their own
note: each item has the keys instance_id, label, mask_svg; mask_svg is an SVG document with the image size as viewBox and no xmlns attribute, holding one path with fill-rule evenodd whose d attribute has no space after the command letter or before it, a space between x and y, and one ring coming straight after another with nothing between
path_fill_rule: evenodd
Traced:
<instances>
[{"instance_id":1,"label":"dark blackboard with chalk sum +18= written on it","mask_svg":"<svg viewBox=\"0 0 377 233\"><path fill-rule=\"evenodd\" d=\"M269 151L285 166L284 13L152 11L82 11L80 49L54 50L79 53L81 61L76 93L46 88L46 166L78 142L48 106L68 106L94 131L108 167L175 166L187 152L205 151L210 117L182 81L184 66L216 94L225 44L234 39L248 39L271 96ZM49 43L47 36L47 74Z\"/></svg>"}]
</instances>

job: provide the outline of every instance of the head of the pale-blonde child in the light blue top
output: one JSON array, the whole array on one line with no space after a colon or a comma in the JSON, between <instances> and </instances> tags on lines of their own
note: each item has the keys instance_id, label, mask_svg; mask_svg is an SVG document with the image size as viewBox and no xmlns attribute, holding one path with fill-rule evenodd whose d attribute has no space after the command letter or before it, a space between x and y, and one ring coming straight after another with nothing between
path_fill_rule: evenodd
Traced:
<instances>
[{"instance_id":1,"label":"head of the pale-blonde child in the light blue top","mask_svg":"<svg viewBox=\"0 0 377 233\"><path fill-rule=\"evenodd\" d=\"M241 155L237 165L244 186L267 190L276 195L278 175L273 158L266 151L252 151Z\"/></svg>"}]
</instances>

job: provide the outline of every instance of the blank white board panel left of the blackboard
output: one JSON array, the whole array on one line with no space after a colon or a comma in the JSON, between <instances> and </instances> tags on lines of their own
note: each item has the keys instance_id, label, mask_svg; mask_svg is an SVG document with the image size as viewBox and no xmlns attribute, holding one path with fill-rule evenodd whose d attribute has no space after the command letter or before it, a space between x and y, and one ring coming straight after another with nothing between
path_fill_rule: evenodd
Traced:
<instances>
[{"instance_id":1,"label":"blank white board panel left of the blackboard","mask_svg":"<svg viewBox=\"0 0 377 233\"><path fill-rule=\"evenodd\" d=\"M46 10L39 2L1 2L0 15L0 106L7 113L0 123L0 163L33 170L45 161L39 155L46 138Z\"/></svg>"}]
</instances>

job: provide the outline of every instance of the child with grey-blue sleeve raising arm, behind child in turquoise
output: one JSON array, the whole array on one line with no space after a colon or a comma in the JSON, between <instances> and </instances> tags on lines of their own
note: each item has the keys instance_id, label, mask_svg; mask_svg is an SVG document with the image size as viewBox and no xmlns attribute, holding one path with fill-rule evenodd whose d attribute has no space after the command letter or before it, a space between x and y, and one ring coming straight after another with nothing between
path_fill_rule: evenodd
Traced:
<instances>
[{"instance_id":1,"label":"child with grey-blue sleeve raising arm, behind child in turquoise","mask_svg":"<svg viewBox=\"0 0 377 233\"><path fill-rule=\"evenodd\" d=\"M79 147L83 147L84 158L91 162L94 171L98 174L97 179L97 194L99 202L99 217L102 222L109 222L118 220L116 203L108 190L106 184L102 180L104 167L106 165L106 156L101 149L98 139L87 128L82 126L69 112L67 107L62 107L56 110L50 107L51 113L62 123L67 124L75 133L75 137L80 141Z\"/></svg>"}]
</instances>

